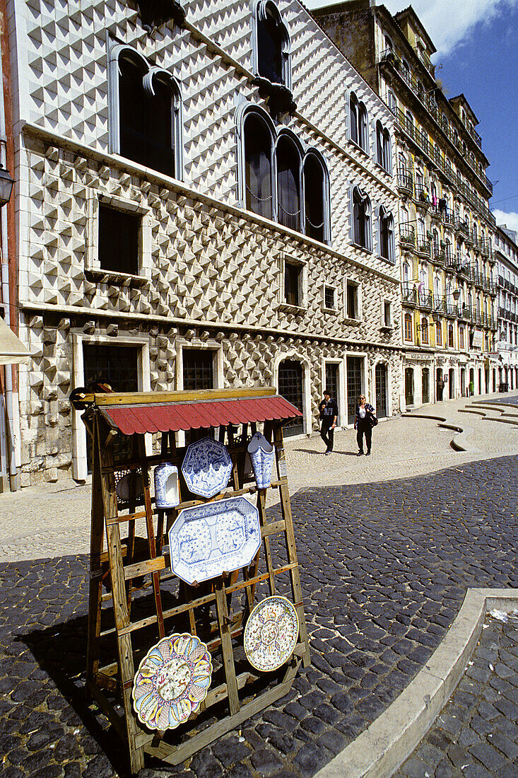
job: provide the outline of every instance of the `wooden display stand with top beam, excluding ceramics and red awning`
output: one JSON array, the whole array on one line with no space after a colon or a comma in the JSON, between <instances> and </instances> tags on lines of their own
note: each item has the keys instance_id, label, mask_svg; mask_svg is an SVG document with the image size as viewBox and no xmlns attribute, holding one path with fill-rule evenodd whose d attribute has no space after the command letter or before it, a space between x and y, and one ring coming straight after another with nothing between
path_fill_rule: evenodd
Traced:
<instances>
[{"instance_id":1,"label":"wooden display stand with top beam, excluding ceramics and red awning","mask_svg":"<svg viewBox=\"0 0 518 778\"><path fill-rule=\"evenodd\" d=\"M254 402L281 401L289 405L275 396L275 390L264 389L168 394L86 394L80 406L86 408L82 418L93 440L86 683L103 713L128 742L132 773L144 766L145 752L173 765L184 762L205 745L285 696L301 662L304 666L310 664L282 439L282 422L290 418L289 412L279 419L272 419L271 415L263 415L261 418L259 414L255 420L249 412L248 421L241 425L239 437L236 436L239 425L227 423L219 426L219 440L226 443L233 461L233 473L229 486L211 499L257 492L264 559L261 559L260 549L249 566L223 573L198 587L184 584L170 571L168 555L163 554L167 542L166 518L170 524L182 508L207 500L192 499L193 496L187 493L185 483L181 481L180 505L168 510L166 517L164 510L156 509L154 498L149 492L149 468L152 465L167 461L176 464L180 471L185 448L177 447L174 429L163 431L163 426L160 427L161 452L154 456L148 456L145 452L145 433L132 434L131 457L126 461L114 462L113 443L123 433L114 424L110 410L129 409L132 414L139 414L145 419L146 408L156 410L158 406L167 411L168 408L178 408L180 404L186 408L186 402L210 401L211 408L217 412L219 402L229 405L229 400L233 400L239 404L239 401L245 399L249 402L250 399ZM290 407L292 417L299 415L296 408ZM271 420L264 421L264 436L275 447L277 465L277 478L272 481L271 488L279 489L282 510L282 519L269 523L265 515L267 490L257 489L253 479L247 478L245 472L249 424L250 433L253 434L256 431L255 421L268 418ZM156 432L156 427L153 430L141 425L140 429L148 433ZM186 427L183 426L183 429ZM198 427L191 431L194 440L211 434L214 434L213 429ZM123 504L116 492L121 474L127 475L126 483L129 484L128 499ZM274 474L272 478L275 478ZM139 522L145 524L145 538L137 536L136 525ZM121 525L128 527L128 534L124 538L121 538ZM106 551L103 550L104 539ZM271 547L274 539L275 550ZM274 563L275 556L281 560L278 566ZM299 639L292 659L277 675L261 674L243 661L243 656L236 659L236 648L239 651L242 647L243 629L254 607L257 587L267 585L269 594L278 594L275 576L281 573L289 573L292 601L299 616ZM166 596L173 596L169 592L164 594L167 583L177 587L177 594L174 595L176 599L173 607L165 608L163 602ZM108 591L103 592L103 584ZM134 611L137 605L141 609L144 607L143 618L131 620L132 605ZM106 628L107 622L109 626ZM190 632L207 643L218 672L213 674L212 686L200 710L192 714L185 724L175 730L152 731L139 722L133 709L131 689L135 671L142 657L157 640L166 633L175 632ZM140 645L139 636L142 636ZM236 664L241 664L240 672L236 671ZM214 685L218 680L217 685ZM219 707L215 710L212 706ZM211 708L212 719L206 713Z\"/></svg>"}]
</instances>

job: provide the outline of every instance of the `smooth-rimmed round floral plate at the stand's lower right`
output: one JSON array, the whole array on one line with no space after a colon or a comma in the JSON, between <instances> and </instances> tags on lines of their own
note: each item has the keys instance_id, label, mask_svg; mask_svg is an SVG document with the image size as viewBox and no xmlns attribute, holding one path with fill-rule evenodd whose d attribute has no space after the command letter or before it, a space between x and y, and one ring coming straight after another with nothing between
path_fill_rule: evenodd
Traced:
<instances>
[{"instance_id":1,"label":"smooth-rimmed round floral plate at the stand's lower right","mask_svg":"<svg viewBox=\"0 0 518 778\"><path fill-rule=\"evenodd\" d=\"M299 617L285 597L268 597L250 613L244 650L256 670L278 670L293 654L299 637Z\"/></svg>"}]
</instances>

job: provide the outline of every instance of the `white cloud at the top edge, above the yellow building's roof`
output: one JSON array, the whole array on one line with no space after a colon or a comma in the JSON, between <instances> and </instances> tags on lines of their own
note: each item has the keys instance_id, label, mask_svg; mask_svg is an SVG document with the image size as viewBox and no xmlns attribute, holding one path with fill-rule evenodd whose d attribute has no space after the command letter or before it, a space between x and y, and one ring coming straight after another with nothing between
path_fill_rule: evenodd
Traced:
<instances>
[{"instance_id":1,"label":"white cloud at the top edge, above the yellow building's roof","mask_svg":"<svg viewBox=\"0 0 518 778\"><path fill-rule=\"evenodd\" d=\"M325 0L307 0L311 8L331 5ZM378 5L382 3L378 2ZM391 13L408 8L409 0L386 0L383 5ZM426 32L432 38L439 54L449 54L454 46L473 32L474 26L487 23L506 12L518 0L414 0L411 3Z\"/></svg>"}]
</instances>

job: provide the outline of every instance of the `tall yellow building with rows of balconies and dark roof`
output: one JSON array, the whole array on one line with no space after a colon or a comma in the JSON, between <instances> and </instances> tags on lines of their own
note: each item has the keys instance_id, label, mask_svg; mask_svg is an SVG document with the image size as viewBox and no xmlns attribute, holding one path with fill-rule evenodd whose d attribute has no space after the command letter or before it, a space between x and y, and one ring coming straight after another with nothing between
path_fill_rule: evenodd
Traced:
<instances>
[{"instance_id":1,"label":"tall yellow building with rows of balconies and dark roof","mask_svg":"<svg viewBox=\"0 0 518 778\"><path fill-rule=\"evenodd\" d=\"M316 19L394 114L407 408L495 391L495 219L488 159L463 94L436 81L432 40L411 6L372 0Z\"/></svg>"}]
</instances>

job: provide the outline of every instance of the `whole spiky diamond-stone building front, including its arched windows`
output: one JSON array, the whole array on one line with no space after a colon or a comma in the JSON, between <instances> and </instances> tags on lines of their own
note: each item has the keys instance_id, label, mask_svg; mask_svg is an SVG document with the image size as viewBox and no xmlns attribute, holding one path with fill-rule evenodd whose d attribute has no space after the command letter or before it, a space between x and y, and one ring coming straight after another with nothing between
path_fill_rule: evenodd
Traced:
<instances>
[{"instance_id":1,"label":"whole spiky diamond-stone building front, including its arched windows","mask_svg":"<svg viewBox=\"0 0 518 778\"><path fill-rule=\"evenodd\" d=\"M96 380L400 410L393 114L298 2L149 7L8 2L22 485L86 478Z\"/></svg>"}]
</instances>

